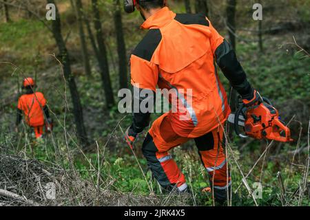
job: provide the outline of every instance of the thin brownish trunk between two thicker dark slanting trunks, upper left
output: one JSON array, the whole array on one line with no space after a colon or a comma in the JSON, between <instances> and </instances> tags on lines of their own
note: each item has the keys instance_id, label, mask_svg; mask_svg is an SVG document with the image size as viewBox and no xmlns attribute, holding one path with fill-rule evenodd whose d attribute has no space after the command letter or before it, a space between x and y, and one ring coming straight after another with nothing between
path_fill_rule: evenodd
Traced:
<instances>
[{"instance_id":1,"label":"thin brownish trunk between two thicker dark slanting trunks, upper left","mask_svg":"<svg viewBox=\"0 0 310 220\"><path fill-rule=\"evenodd\" d=\"M75 4L74 4L75 2ZM83 56L83 65L86 76L90 76L92 74L90 69L90 59L88 56L87 51L87 43L85 40L85 33L83 28L83 5L81 0L71 0L72 7L74 7L74 11L76 14L76 19L79 24L79 34L80 34L80 40L81 40L81 52Z\"/></svg>"}]
</instances>

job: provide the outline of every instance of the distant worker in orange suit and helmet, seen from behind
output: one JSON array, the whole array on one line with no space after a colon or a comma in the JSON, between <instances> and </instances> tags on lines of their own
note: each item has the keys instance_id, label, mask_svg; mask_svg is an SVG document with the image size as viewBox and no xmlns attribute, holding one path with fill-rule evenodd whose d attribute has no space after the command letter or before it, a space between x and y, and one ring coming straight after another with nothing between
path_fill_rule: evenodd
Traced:
<instances>
[{"instance_id":1,"label":"distant worker in orange suit and helmet, seen from behind","mask_svg":"<svg viewBox=\"0 0 310 220\"><path fill-rule=\"evenodd\" d=\"M16 127L18 128L22 115L24 115L25 123L33 127L35 137L41 138L43 137L43 127L45 125L47 131L52 130L52 120L43 94L39 91L35 92L34 87L35 83L32 78L25 78L23 80L25 94L19 98L17 105ZM44 118L46 118L46 121Z\"/></svg>"}]
</instances>

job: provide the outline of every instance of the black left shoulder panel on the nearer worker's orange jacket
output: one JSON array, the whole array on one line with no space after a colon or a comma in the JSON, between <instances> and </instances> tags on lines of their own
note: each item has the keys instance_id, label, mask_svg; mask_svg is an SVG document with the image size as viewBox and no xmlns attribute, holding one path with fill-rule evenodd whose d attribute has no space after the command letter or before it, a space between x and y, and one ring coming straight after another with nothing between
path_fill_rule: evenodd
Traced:
<instances>
[{"instance_id":1,"label":"black left shoulder panel on the nearer worker's orange jacket","mask_svg":"<svg viewBox=\"0 0 310 220\"><path fill-rule=\"evenodd\" d=\"M136 46L132 54L147 61L151 61L156 48L161 42L161 39L161 30L150 29L143 40Z\"/></svg>"}]
</instances>

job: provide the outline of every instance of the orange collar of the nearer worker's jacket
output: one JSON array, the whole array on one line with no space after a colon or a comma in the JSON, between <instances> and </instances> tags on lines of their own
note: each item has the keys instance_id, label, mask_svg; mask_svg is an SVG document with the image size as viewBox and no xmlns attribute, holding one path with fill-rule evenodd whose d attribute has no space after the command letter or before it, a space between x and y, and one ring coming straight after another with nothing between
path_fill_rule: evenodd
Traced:
<instances>
[{"instance_id":1,"label":"orange collar of the nearer worker's jacket","mask_svg":"<svg viewBox=\"0 0 310 220\"><path fill-rule=\"evenodd\" d=\"M164 7L161 10L158 10L155 14L149 17L142 25L143 29L154 29L154 28L162 28L163 26L170 23L176 14L169 10L168 7Z\"/></svg>"}]
</instances>

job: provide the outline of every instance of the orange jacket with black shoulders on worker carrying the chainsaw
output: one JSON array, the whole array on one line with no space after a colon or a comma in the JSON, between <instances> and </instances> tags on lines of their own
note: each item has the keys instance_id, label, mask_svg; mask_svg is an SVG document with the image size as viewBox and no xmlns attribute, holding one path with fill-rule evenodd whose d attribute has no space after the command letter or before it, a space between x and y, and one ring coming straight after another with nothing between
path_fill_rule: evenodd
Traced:
<instances>
[{"instance_id":1,"label":"orange jacket with black shoulders on worker carrying the chainsaw","mask_svg":"<svg viewBox=\"0 0 310 220\"><path fill-rule=\"evenodd\" d=\"M216 48L224 39L210 21L197 14L175 14L165 7L141 26L149 32L131 56L131 83L140 89L173 89L187 109L169 113L172 129L180 137L200 137L227 120L227 95L215 65ZM187 90L192 89L191 102ZM160 124L160 123L155 123ZM152 127L152 137L160 136ZM158 139L158 147L165 147ZM157 142L157 143L156 143Z\"/></svg>"}]
</instances>

